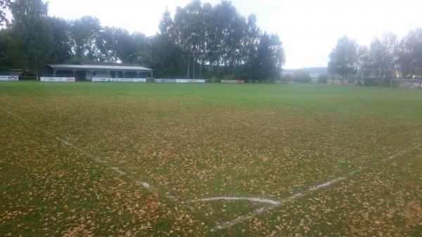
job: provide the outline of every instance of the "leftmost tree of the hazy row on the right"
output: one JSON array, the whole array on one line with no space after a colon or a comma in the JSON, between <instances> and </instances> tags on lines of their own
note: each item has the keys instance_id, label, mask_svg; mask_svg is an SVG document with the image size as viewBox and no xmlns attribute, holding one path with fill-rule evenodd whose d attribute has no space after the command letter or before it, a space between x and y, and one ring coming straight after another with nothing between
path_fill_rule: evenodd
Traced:
<instances>
[{"instance_id":1,"label":"leftmost tree of the hazy row on the right","mask_svg":"<svg viewBox=\"0 0 422 237\"><path fill-rule=\"evenodd\" d=\"M337 41L337 46L330 53L328 62L328 72L340 75L340 79L355 75L357 72L357 43L347 36L341 37Z\"/></svg>"}]
</instances>

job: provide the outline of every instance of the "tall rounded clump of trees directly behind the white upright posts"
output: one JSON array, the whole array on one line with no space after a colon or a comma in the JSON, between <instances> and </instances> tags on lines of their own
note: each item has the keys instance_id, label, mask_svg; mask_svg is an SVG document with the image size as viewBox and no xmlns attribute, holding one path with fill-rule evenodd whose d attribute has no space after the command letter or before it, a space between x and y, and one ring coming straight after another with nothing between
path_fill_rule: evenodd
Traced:
<instances>
[{"instance_id":1,"label":"tall rounded clump of trees directly behind the white upright posts","mask_svg":"<svg viewBox=\"0 0 422 237\"><path fill-rule=\"evenodd\" d=\"M276 78L285 61L279 37L262 36L255 16L246 20L230 1L212 7L193 0L185 8L177 8L172 32L174 44L188 53L188 72L195 77L198 65L200 75L208 68L208 76L219 79L251 78L254 65L265 65L270 71L257 74Z\"/></svg>"}]
</instances>

